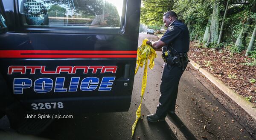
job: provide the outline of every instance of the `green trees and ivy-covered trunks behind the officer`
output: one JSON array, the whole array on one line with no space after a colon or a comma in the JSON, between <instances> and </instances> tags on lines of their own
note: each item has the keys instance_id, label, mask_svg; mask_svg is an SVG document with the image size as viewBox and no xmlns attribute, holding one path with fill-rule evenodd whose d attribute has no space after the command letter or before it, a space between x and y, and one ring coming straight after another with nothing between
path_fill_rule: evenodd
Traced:
<instances>
[{"instance_id":1,"label":"green trees and ivy-covered trunks behind the officer","mask_svg":"<svg viewBox=\"0 0 256 140\"><path fill-rule=\"evenodd\" d=\"M253 39L255 0L142 0L141 23L163 26L163 13L169 10L188 26L191 40L204 38L208 47L231 46L239 52Z\"/></svg>"}]
</instances>

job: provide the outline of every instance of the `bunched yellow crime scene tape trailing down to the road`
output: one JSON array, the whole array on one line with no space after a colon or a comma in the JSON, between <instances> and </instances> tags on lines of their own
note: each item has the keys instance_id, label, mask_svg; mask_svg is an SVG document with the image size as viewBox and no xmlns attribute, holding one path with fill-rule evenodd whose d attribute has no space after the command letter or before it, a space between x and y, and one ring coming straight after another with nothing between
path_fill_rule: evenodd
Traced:
<instances>
[{"instance_id":1,"label":"bunched yellow crime scene tape trailing down to the road","mask_svg":"<svg viewBox=\"0 0 256 140\"><path fill-rule=\"evenodd\" d=\"M137 71L139 69L139 67L143 67L143 65L145 65L144 67L144 72L143 72L143 79L142 79L142 85L141 85L141 98L140 98L140 106L136 111L136 120L134 122L134 124L131 127L131 137L134 134L134 130L136 128L136 124L138 122L138 120L140 119L140 108L141 108L141 103L143 100L143 95L146 89L146 85L147 85L147 70L149 67L150 69L153 69L154 67L154 58L157 57L157 53L156 51L148 44L146 44L146 42L148 41L148 39L144 39L142 45L138 48L137 51L137 56L138 56L138 60L137 60L137 67L135 70L135 74L137 74ZM148 66L148 59L150 60L149 66Z\"/></svg>"}]
</instances>

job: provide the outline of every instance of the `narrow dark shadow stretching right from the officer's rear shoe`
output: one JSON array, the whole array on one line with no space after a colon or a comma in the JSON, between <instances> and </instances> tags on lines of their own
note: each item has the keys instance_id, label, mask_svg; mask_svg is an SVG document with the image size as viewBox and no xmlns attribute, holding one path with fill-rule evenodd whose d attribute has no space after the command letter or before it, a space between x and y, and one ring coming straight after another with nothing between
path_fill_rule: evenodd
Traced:
<instances>
[{"instance_id":1,"label":"narrow dark shadow stretching right from the officer's rear shoe","mask_svg":"<svg viewBox=\"0 0 256 140\"><path fill-rule=\"evenodd\" d=\"M197 140L176 114L168 113L167 117L177 126L187 140Z\"/></svg>"}]
</instances>

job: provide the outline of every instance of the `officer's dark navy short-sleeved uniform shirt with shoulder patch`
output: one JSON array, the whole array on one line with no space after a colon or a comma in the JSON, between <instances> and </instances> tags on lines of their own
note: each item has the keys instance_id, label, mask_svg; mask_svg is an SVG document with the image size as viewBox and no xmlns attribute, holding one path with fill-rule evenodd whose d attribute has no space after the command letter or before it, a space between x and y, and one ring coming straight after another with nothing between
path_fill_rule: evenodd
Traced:
<instances>
[{"instance_id":1,"label":"officer's dark navy short-sleeved uniform shirt with shoulder patch","mask_svg":"<svg viewBox=\"0 0 256 140\"><path fill-rule=\"evenodd\" d=\"M163 49L167 47L167 50L170 50L169 47L172 47L179 53L189 51L189 30L181 20L177 20L172 26L169 26L160 40L166 44Z\"/></svg>"}]
</instances>

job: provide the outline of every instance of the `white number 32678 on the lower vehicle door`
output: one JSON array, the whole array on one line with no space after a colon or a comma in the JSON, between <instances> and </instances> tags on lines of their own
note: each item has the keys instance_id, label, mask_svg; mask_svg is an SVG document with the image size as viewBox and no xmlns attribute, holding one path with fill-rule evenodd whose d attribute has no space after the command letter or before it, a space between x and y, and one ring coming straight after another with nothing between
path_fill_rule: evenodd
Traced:
<instances>
[{"instance_id":1,"label":"white number 32678 on the lower vehicle door","mask_svg":"<svg viewBox=\"0 0 256 140\"><path fill-rule=\"evenodd\" d=\"M58 103L32 103L31 104L32 109L34 110L41 110L41 109L62 109L64 108L63 103L62 102L58 102Z\"/></svg>"}]
</instances>

